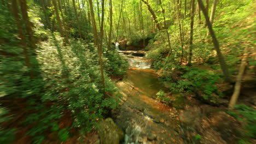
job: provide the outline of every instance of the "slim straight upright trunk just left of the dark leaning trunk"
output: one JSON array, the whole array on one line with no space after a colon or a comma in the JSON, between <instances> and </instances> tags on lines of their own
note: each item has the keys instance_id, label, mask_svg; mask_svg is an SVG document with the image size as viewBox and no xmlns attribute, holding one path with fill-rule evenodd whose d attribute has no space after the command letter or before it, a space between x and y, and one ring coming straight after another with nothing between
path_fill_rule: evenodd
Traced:
<instances>
[{"instance_id":1,"label":"slim straight upright trunk just left of the dark leaning trunk","mask_svg":"<svg viewBox=\"0 0 256 144\"><path fill-rule=\"evenodd\" d=\"M189 63L188 65L191 66L192 60L192 50L193 50L193 32L194 32L194 15L195 15L195 0L191 0L191 14L190 14L190 41L189 41Z\"/></svg>"}]
</instances>

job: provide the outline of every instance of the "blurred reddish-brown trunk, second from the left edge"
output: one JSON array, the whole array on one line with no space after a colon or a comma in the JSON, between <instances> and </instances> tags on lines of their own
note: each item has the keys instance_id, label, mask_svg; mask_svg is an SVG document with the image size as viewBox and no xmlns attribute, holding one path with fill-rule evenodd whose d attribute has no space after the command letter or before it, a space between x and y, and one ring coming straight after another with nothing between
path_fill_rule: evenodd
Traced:
<instances>
[{"instance_id":1,"label":"blurred reddish-brown trunk, second from the left edge","mask_svg":"<svg viewBox=\"0 0 256 144\"><path fill-rule=\"evenodd\" d=\"M34 40L33 30L32 30L32 22L30 22L30 19L28 18L28 14L27 14L27 1L20 0L20 7L21 7L22 19L25 22L28 39L30 40L30 44L28 46L30 46L32 49L36 49L36 41Z\"/></svg>"}]
</instances>

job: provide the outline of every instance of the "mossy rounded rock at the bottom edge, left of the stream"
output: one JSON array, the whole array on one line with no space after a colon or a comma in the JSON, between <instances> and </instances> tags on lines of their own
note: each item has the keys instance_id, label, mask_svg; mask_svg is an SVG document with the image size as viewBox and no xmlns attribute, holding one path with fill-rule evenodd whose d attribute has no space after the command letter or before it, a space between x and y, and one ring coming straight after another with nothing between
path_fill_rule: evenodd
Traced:
<instances>
[{"instance_id":1,"label":"mossy rounded rock at the bottom edge, left of the stream","mask_svg":"<svg viewBox=\"0 0 256 144\"><path fill-rule=\"evenodd\" d=\"M106 118L98 123L98 134L101 144L118 144L124 139L124 133L114 123L112 118Z\"/></svg>"}]
</instances>

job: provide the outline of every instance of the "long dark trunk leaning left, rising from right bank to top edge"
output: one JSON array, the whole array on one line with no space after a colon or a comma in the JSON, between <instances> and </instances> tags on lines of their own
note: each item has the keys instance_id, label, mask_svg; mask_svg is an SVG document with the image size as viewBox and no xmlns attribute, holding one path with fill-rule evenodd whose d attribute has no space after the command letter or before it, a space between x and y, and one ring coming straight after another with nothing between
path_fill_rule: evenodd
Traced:
<instances>
[{"instance_id":1,"label":"long dark trunk leaning left, rising from right bank to top edge","mask_svg":"<svg viewBox=\"0 0 256 144\"><path fill-rule=\"evenodd\" d=\"M222 68L223 74L225 76L225 80L228 81L228 82L231 82L228 67L226 66L226 62L224 60L224 57L222 56L222 52L219 49L219 42L218 42L218 40L216 38L216 35L213 31L212 24L210 22L209 16L207 15L206 10L205 10L205 6L203 5L202 0L197 0L197 2L199 3L199 6L202 10L203 15L205 16L206 25L208 27L208 30L209 30L210 34L211 34L212 42L213 42L214 48L217 52L220 67Z\"/></svg>"}]
</instances>

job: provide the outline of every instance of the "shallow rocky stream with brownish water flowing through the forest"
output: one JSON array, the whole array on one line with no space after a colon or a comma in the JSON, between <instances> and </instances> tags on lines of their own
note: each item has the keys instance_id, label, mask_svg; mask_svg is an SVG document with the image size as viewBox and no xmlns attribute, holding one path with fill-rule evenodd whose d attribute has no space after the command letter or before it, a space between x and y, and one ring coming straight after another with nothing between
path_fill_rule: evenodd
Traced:
<instances>
[{"instance_id":1,"label":"shallow rocky stream with brownish water flowing through the forest","mask_svg":"<svg viewBox=\"0 0 256 144\"><path fill-rule=\"evenodd\" d=\"M136 54L122 55L129 59L130 68L117 82L124 98L113 119L125 133L124 143L184 143L178 112L155 99L166 88L150 69L151 63Z\"/></svg>"}]
</instances>

